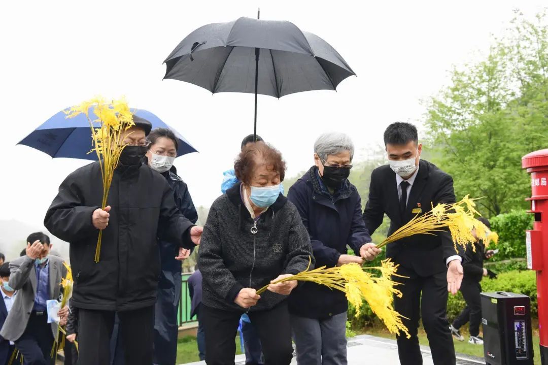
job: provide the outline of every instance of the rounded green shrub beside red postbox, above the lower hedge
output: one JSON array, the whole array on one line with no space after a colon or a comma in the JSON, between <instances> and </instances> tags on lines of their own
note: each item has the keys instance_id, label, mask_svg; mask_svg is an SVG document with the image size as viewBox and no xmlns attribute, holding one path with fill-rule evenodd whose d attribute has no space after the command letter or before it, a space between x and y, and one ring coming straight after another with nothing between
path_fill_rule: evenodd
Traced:
<instances>
[{"instance_id":1,"label":"rounded green shrub beside red postbox, above the lower hedge","mask_svg":"<svg viewBox=\"0 0 548 365\"><path fill-rule=\"evenodd\" d=\"M492 260L500 261L526 256L525 230L533 228L533 214L525 210L512 210L510 213L499 214L489 221L493 231L499 234L499 253ZM494 248L492 245L491 248Z\"/></svg>"}]
</instances>

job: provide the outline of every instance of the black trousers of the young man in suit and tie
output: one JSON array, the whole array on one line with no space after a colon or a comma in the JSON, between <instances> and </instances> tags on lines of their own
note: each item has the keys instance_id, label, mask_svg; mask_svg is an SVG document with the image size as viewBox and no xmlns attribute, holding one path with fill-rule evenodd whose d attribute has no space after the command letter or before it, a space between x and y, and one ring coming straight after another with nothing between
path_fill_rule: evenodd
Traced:
<instances>
[{"instance_id":1,"label":"black trousers of the young man in suit and tie","mask_svg":"<svg viewBox=\"0 0 548 365\"><path fill-rule=\"evenodd\" d=\"M423 356L420 353L417 336L419 319L422 316L423 326L430 343L432 360L435 365L454 365L455 347L447 321L447 273L441 272L433 276L421 277L414 270L399 266L398 275L407 278L393 277L402 283L397 288L401 290L402 298L394 297L394 308L404 319L411 337L398 335L399 362L402 365L421 365Z\"/></svg>"}]
</instances>

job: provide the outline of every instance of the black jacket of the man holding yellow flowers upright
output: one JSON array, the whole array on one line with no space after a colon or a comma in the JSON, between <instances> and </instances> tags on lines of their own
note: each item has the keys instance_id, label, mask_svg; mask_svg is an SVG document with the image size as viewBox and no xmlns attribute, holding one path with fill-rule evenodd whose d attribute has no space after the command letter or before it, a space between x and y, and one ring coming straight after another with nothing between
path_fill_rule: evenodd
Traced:
<instances>
[{"instance_id":1,"label":"black jacket of the man holding yellow flowers upright","mask_svg":"<svg viewBox=\"0 0 548 365\"><path fill-rule=\"evenodd\" d=\"M71 303L89 310L126 311L154 305L160 261L157 238L191 248L191 221L175 206L165 178L146 164L119 166L107 205L99 263L94 262L99 231L92 223L101 205L99 162L67 176L45 215L44 225L70 243L75 288Z\"/></svg>"}]
</instances>

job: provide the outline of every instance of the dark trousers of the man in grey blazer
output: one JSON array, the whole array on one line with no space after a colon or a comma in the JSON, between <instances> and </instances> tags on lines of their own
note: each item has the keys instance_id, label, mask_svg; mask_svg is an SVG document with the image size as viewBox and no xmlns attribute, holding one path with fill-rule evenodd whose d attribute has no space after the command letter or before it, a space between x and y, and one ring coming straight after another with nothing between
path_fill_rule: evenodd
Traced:
<instances>
[{"instance_id":1,"label":"dark trousers of the man in grey blazer","mask_svg":"<svg viewBox=\"0 0 548 365\"><path fill-rule=\"evenodd\" d=\"M15 341L15 347L23 355L25 365L55 363L51 356L54 341L52 325L48 323L47 312L40 313L31 312L25 332Z\"/></svg>"}]
</instances>

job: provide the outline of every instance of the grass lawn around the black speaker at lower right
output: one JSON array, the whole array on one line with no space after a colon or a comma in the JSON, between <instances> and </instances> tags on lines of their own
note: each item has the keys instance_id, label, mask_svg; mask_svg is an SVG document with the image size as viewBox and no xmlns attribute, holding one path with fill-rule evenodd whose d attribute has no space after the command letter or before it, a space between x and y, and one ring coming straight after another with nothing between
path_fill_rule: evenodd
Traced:
<instances>
[{"instance_id":1,"label":"grass lawn around the black speaker at lower right","mask_svg":"<svg viewBox=\"0 0 548 365\"><path fill-rule=\"evenodd\" d=\"M533 327L533 351L535 355L534 361L535 361L535 365L540 365L538 321L534 321L532 323L532 327ZM461 328L460 333L464 336L465 340L458 341L453 338L453 343L455 344L455 352L483 358L483 346L471 345L468 343L470 334L468 333L467 326L464 326L463 328ZM396 337L390 334L385 328L367 328L367 330L365 330L363 334L396 339ZM419 328L419 342L421 345L428 346L428 339L426 338L426 332L424 332L424 329L422 327Z\"/></svg>"}]
</instances>

